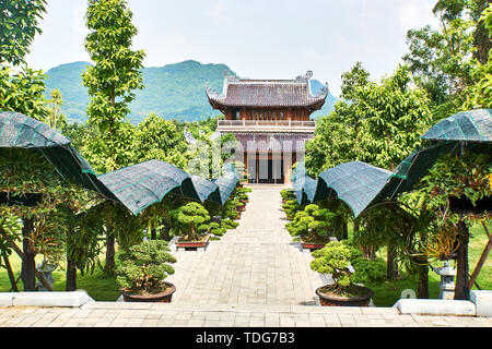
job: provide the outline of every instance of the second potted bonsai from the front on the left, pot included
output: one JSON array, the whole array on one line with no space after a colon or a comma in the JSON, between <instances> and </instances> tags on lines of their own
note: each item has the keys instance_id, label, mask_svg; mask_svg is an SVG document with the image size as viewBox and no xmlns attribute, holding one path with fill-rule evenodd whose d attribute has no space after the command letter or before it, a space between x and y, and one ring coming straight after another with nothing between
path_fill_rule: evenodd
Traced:
<instances>
[{"instance_id":1,"label":"second potted bonsai from the front on the left, pot included","mask_svg":"<svg viewBox=\"0 0 492 349\"><path fill-rule=\"evenodd\" d=\"M210 236L209 212L199 203L190 202L177 208L174 213L179 224L188 228L188 233L176 241L177 248L204 248Z\"/></svg>"}]
</instances>

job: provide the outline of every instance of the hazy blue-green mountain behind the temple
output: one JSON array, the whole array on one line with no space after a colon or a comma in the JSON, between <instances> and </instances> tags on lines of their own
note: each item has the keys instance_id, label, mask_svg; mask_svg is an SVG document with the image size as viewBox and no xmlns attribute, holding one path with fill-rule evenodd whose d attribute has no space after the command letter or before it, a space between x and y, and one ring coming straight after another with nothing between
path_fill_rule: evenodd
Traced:
<instances>
[{"instance_id":1,"label":"hazy blue-green mountain behind the temple","mask_svg":"<svg viewBox=\"0 0 492 349\"><path fill-rule=\"evenodd\" d=\"M68 122L84 122L85 108L89 104L87 89L82 85L82 72L91 63L73 62L55 67L46 72L46 98L52 89L58 88L63 99L61 107ZM221 112L212 109L204 92L208 83L212 88L222 92L224 71L236 75L225 64L202 64L194 60L167 64L160 68L142 70L143 89L136 91L136 99L130 105L129 119L137 124L149 113L164 119L180 121L198 121ZM312 93L324 85L312 80ZM329 113L337 100L328 94L321 110L313 113L313 118Z\"/></svg>"}]
</instances>

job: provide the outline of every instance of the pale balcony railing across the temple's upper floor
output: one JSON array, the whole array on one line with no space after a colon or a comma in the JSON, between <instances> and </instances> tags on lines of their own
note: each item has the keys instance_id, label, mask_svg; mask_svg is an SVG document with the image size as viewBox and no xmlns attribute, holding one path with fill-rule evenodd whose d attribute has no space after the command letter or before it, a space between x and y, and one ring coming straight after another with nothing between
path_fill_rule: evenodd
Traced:
<instances>
[{"instance_id":1,"label":"pale balcony railing across the temple's upper floor","mask_svg":"<svg viewBox=\"0 0 492 349\"><path fill-rule=\"evenodd\" d=\"M220 132L307 132L313 133L316 121L296 120L218 120Z\"/></svg>"}]
</instances>

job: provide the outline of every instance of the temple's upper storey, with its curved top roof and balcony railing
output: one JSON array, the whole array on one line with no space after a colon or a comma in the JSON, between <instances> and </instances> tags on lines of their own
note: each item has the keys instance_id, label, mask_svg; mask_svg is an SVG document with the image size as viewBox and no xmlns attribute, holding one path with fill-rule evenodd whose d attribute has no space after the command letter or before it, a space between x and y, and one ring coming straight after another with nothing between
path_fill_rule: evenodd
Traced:
<instances>
[{"instance_id":1,"label":"temple's upper storey, with its curved top roof and balcony railing","mask_svg":"<svg viewBox=\"0 0 492 349\"><path fill-rule=\"evenodd\" d=\"M246 80L226 75L222 93L207 86L210 105L224 115L218 130L313 132L316 122L311 121L309 116L325 104L328 87L313 95L312 75L311 71L294 80Z\"/></svg>"}]
</instances>

